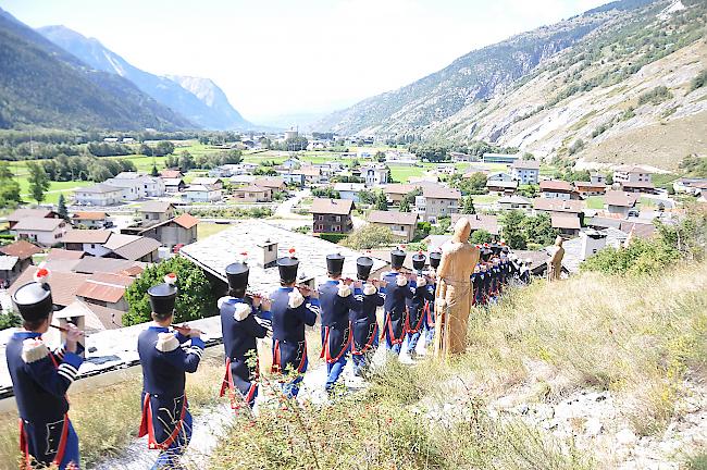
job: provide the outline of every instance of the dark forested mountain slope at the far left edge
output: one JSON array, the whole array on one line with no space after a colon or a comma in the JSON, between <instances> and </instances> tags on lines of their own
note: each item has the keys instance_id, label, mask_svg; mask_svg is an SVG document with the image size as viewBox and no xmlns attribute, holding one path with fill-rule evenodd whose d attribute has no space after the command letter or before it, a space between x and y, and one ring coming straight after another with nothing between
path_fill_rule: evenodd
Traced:
<instances>
[{"instance_id":1,"label":"dark forested mountain slope at the far left edge","mask_svg":"<svg viewBox=\"0 0 707 470\"><path fill-rule=\"evenodd\" d=\"M156 129L194 124L0 9L0 128Z\"/></svg>"}]
</instances>

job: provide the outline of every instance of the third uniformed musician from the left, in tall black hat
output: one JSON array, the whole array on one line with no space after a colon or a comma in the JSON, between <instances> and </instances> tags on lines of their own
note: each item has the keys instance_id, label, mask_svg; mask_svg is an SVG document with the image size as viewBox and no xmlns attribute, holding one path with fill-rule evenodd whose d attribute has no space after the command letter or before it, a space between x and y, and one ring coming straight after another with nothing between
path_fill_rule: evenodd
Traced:
<instances>
[{"instance_id":1,"label":"third uniformed musician from the left, in tall black hat","mask_svg":"<svg viewBox=\"0 0 707 470\"><path fill-rule=\"evenodd\" d=\"M236 391L250 408L256 404L259 374L258 338L265 337L270 319L269 299L261 301L260 297L256 296L252 298L252 305L246 299L249 272L245 259L228 264L228 295L218 301L226 357L226 374L220 396L224 396L227 389L234 410L240 408L236 401Z\"/></svg>"}]
</instances>

